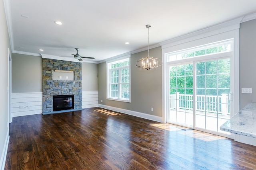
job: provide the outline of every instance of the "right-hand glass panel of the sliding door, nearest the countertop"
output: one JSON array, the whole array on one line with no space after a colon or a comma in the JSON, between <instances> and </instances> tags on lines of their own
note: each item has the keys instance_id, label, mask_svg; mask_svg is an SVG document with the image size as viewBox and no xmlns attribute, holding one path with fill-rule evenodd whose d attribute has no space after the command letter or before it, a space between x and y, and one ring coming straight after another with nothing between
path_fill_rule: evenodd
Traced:
<instances>
[{"instance_id":1,"label":"right-hand glass panel of the sliding door, nearest the countertop","mask_svg":"<svg viewBox=\"0 0 256 170\"><path fill-rule=\"evenodd\" d=\"M197 62L195 67L195 127L220 132L230 119L230 59Z\"/></svg>"}]
</instances>

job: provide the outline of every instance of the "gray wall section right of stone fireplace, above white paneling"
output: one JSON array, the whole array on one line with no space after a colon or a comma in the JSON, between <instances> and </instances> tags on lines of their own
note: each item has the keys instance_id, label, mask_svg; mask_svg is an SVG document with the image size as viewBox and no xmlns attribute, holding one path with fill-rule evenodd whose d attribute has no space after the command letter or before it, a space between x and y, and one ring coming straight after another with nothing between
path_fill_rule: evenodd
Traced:
<instances>
[{"instance_id":1,"label":"gray wall section right of stone fireplace, above white paneling","mask_svg":"<svg viewBox=\"0 0 256 170\"><path fill-rule=\"evenodd\" d=\"M82 63L82 91L98 90L98 64Z\"/></svg>"}]
</instances>

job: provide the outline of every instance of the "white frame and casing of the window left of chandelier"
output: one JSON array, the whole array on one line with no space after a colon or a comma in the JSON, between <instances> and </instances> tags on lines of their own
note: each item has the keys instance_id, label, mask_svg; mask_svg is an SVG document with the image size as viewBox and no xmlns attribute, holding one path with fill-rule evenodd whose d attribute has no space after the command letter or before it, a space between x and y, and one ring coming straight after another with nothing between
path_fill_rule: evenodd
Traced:
<instances>
[{"instance_id":1,"label":"white frame and casing of the window left of chandelier","mask_svg":"<svg viewBox=\"0 0 256 170\"><path fill-rule=\"evenodd\" d=\"M123 61L129 61L129 65L128 66L122 66L122 67L118 67L118 68L110 68L111 64L115 64L115 63L120 63ZM120 101L120 102L131 102L131 60L130 60L130 55L126 55L123 57L118 57L116 59L110 60L106 62L106 67L107 67L107 100L115 100L115 101ZM124 99L121 98L121 91L120 91L120 85L121 83L121 70L124 68L129 68L129 99ZM110 97L110 72L112 70L119 70L119 81L118 81L118 97L117 98L113 98Z\"/></svg>"}]
</instances>

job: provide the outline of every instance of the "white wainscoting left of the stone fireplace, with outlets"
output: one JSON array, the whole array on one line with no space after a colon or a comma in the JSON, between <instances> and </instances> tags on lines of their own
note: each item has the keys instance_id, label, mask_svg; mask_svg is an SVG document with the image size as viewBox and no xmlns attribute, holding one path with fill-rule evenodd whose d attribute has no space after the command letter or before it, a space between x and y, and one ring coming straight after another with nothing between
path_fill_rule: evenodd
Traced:
<instances>
[{"instance_id":1,"label":"white wainscoting left of the stone fireplace, with outlets","mask_svg":"<svg viewBox=\"0 0 256 170\"><path fill-rule=\"evenodd\" d=\"M12 117L43 112L43 93L12 93Z\"/></svg>"}]
</instances>

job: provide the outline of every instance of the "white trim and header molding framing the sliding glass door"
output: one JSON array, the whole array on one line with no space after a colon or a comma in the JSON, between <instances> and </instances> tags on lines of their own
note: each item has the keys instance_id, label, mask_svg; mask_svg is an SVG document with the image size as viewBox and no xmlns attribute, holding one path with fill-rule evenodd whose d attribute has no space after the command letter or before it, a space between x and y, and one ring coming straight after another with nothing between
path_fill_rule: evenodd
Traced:
<instances>
[{"instance_id":1,"label":"white trim and header molding framing the sliding glass door","mask_svg":"<svg viewBox=\"0 0 256 170\"><path fill-rule=\"evenodd\" d=\"M232 77L233 80L230 80L233 84L233 101L232 101L232 111L231 113L237 113L239 111L239 27L240 21L242 18L232 20L226 23L215 25L194 33L190 33L184 36L180 36L163 43L162 45L162 59L163 59L163 75L162 75L162 88L163 88L163 122L166 122L166 113L168 113L168 76L166 69L168 68L167 62L167 53L178 52L183 49L190 49L193 47L199 47L201 45L210 44L213 42L223 41L227 39L234 39L234 49L232 53L234 57L234 62L231 63L231 69L234 71ZM228 52L229 53L229 52ZM217 54L224 55L224 54ZM186 61L190 61L192 58L187 58ZM199 59L199 58L198 58ZM185 60L184 60L185 61ZM172 61L172 64L177 64L180 61ZM234 135L231 134L231 139L234 138Z\"/></svg>"}]
</instances>

